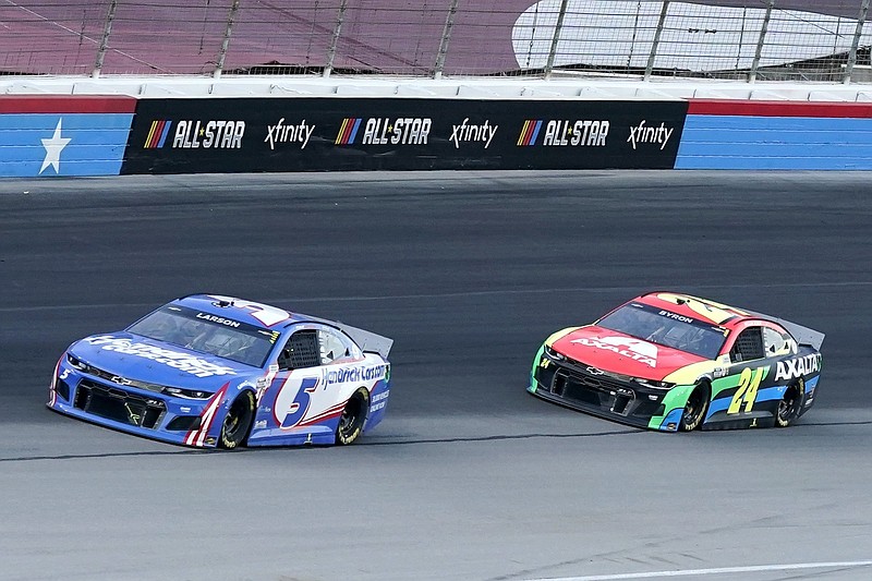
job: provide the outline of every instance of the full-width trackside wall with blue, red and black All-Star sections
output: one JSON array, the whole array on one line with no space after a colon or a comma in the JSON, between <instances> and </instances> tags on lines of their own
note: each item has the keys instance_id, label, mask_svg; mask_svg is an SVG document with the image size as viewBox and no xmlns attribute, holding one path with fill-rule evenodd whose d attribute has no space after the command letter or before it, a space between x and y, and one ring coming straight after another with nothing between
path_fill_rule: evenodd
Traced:
<instances>
[{"instance_id":1,"label":"full-width trackside wall with blue, red and black All-Star sections","mask_svg":"<svg viewBox=\"0 0 872 581\"><path fill-rule=\"evenodd\" d=\"M0 177L872 169L872 102L0 96Z\"/></svg>"}]
</instances>

